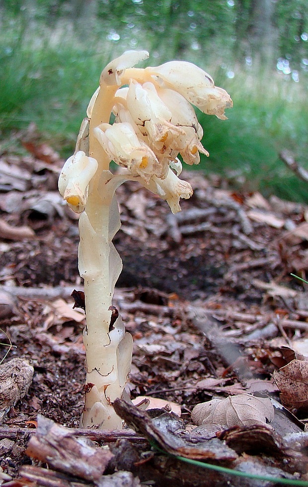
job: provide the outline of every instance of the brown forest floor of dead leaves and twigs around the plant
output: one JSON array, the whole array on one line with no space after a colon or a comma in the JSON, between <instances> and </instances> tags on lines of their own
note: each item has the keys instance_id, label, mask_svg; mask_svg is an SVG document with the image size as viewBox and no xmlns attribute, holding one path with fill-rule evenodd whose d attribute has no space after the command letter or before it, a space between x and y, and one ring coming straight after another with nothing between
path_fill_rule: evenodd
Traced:
<instances>
[{"instance_id":1,"label":"brown forest floor of dead leaves and twigs around the plant","mask_svg":"<svg viewBox=\"0 0 308 487\"><path fill-rule=\"evenodd\" d=\"M127 430L130 440L118 432L108 445L118 458L119 442L129 441L136 448L134 468L132 462L125 464L122 455L122 463L118 459L118 464L109 465L99 481L81 474L74 477L74 472L59 467L54 470L62 470L61 479L55 473L56 477L48 477L53 471L44 468L42 458L39 463L33 460L38 458L35 454L31 459L29 451L29 455L25 453L38 414L67 428L78 428L85 382L84 314L72 309L74 300L70 297L73 289L82 289L77 270L77 218L57 192L63 161L48 147L28 144L27 148L28 155L10 153L0 159L3 485L67 487L79 482L100 487L138 486L137 477L143 485L156 486L169 486L170 482L184 487L223 486L227 482L272 485L219 473L213 480L207 472L200 473L200 467L175 467L170 458L166 465L161 452L155 460L149 444L138 446L131 430ZM274 196L265 200L258 193L232 192L227 182L216 176L206 179L199 172L190 172L181 177L189 180L194 195L181 202L182 211L175 216L166 202L137 184L127 183L118 190L122 227L114 244L123 259L123 272L114 305L134 339L127 390L132 399L147 396L167 401L165 410L178 405L185 425L191 424L193 407L213 397L243 393L271 397L276 404L275 434L280 440L265 425L262 434L268 435L267 439L261 441L262 434L255 433L257 439L251 447L248 423L234 427L227 421L214 433L200 433L203 441L215 437L223 443L224 439L234 453L229 460L215 453L210 463L231 469L235 464L240 469L241 464L248 474L305 480L308 373L306 378L305 371L302 373L300 391L292 388L297 381L294 376L289 382L286 378L285 389L279 383L285 393L285 409L273 374L288 362L307 365L299 355L308 356L307 293L290 273L305 277L308 268L308 208ZM10 350L5 345L9 342L13 346ZM286 358L290 349L294 352ZM10 363L15 358L28 361L34 375L28 382L21 381L15 399L6 403L7 377L19 373L12 368L14 361ZM161 408L159 403L153 405ZM277 419L279 414L283 416ZM140 421L151 422L149 418ZM127 423L133 426L134 420ZM148 426L136 435L145 434ZM217 440L222 430L230 432L232 428L237 428L238 435L248 435L242 443L237 437L239 448L232 447L225 436ZM297 446L291 442L291 434L299 435ZM95 444L102 444L101 438L93 435ZM300 447L299 437L305 437ZM269 438L278 445L276 453L268 451ZM209 456L197 458L206 461ZM36 469L35 474L31 468ZM38 478L42 470L45 474ZM131 471L133 476L126 483L116 478L112 483L117 470Z\"/></svg>"}]
</instances>

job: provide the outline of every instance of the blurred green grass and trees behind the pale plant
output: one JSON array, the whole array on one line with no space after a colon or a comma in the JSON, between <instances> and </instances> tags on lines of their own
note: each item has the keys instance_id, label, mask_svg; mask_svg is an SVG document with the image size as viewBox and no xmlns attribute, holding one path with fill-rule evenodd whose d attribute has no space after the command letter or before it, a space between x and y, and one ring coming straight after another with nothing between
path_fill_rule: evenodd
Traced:
<instances>
[{"instance_id":1,"label":"blurred green grass and trees behind the pale plant","mask_svg":"<svg viewBox=\"0 0 308 487\"><path fill-rule=\"evenodd\" d=\"M199 115L198 168L244 190L308 200L279 158L308 169L307 0L0 0L0 151L35 122L66 157L102 68L127 49L184 59L231 95L228 121Z\"/></svg>"}]
</instances>

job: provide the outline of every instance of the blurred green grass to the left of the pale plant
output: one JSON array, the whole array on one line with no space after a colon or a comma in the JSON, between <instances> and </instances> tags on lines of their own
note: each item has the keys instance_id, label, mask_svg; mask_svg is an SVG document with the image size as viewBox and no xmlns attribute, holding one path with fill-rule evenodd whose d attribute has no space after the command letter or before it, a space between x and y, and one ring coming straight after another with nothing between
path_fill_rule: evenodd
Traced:
<instances>
[{"instance_id":1,"label":"blurred green grass to the left of the pale plant","mask_svg":"<svg viewBox=\"0 0 308 487\"><path fill-rule=\"evenodd\" d=\"M0 130L35 122L71 151L108 50L97 52L64 32L51 42L50 32L37 26L35 35L18 22L8 27L10 36L0 34Z\"/></svg>"}]
</instances>

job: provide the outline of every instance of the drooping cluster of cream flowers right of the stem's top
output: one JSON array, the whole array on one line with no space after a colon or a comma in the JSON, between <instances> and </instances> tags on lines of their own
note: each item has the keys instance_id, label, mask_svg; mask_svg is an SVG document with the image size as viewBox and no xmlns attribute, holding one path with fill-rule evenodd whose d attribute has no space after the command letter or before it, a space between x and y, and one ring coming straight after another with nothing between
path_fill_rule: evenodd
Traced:
<instances>
[{"instance_id":1,"label":"drooping cluster of cream flowers right of the stem's top","mask_svg":"<svg viewBox=\"0 0 308 487\"><path fill-rule=\"evenodd\" d=\"M145 51L139 54L138 58L135 51L128 51L104 69L101 83L120 87L112 109L115 121L99 124L94 133L110 160L127 168L130 175L139 176L175 213L180 210L179 198L192 195L189 183L175 184L182 169L178 155L190 165L199 164L200 152L209 155L201 143L203 130L191 104L224 120L232 101L225 90L215 87L210 75L188 62L126 69L148 57ZM97 94L89 104L88 116ZM171 204L170 190L175 196Z\"/></svg>"}]
</instances>

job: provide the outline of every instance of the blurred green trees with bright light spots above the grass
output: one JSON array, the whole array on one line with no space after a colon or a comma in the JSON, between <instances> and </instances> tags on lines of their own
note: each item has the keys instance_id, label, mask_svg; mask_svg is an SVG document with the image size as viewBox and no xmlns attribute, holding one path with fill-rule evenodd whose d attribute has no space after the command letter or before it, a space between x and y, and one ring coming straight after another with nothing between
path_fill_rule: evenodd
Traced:
<instances>
[{"instance_id":1,"label":"blurred green trees with bright light spots above the grass","mask_svg":"<svg viewBox=\"0 0 308 487\"><path fill-rule=\"evenodd\" d=\"M307 0L1 0L0 10L48 25L91 20L101 33L121 37L143 31L169 55L215 42L240 59L268 50L271 41L273 58L288 56L294 69L308 58Z\"/></svg>"}]
</instances>

